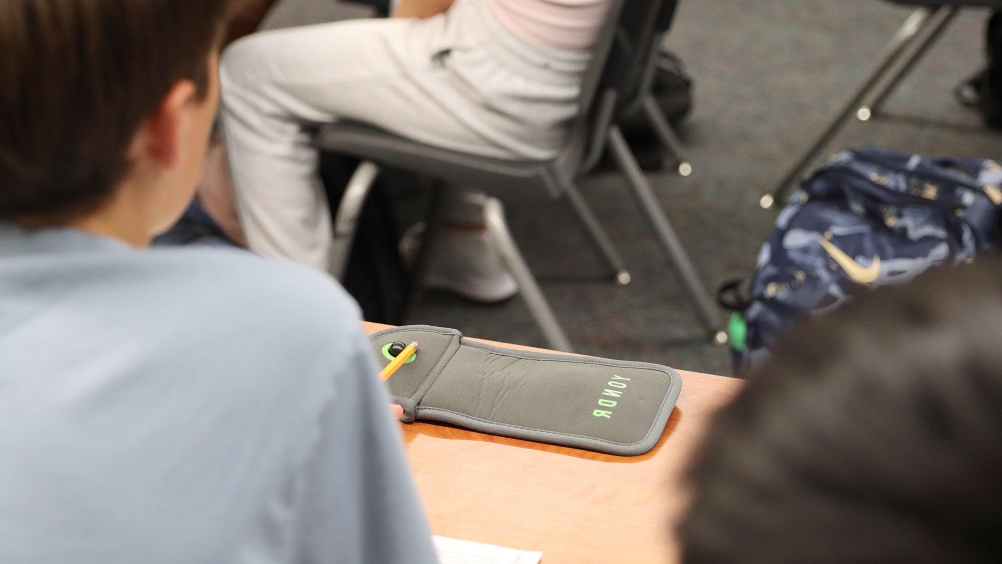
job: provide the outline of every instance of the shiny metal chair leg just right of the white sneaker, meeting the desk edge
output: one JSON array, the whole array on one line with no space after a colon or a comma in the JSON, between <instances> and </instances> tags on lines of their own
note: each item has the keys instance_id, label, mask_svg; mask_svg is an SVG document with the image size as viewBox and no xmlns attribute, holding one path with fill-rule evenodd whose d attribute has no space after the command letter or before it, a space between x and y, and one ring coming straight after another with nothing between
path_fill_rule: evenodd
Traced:
<instances>
[{"instance_id":1,"label":"shiny metal chair leg just right of the white sneaker, meeting the desk edge","mask_svg":"<svg viewBox=\"0 0 1002 564\"><path fill-rule=\"evenodd\" d=\"M504 218L504 207L498 199L487 199L487 204L484 206L484 220L487 224L487 233L491 241L497 246L498 253L501 255L505 266L508 267L512 276L518 282L519 293L522 294L525 304L529 307L529 312L536 320L536 324L539 325L539 329L543 332L543 336L546 337L550 348L572 352L567 334L564 333L563 327L560 326L556 316L553 314L553 309L550 308L549 302L546 301L546 296L543 295L543 291L539 288L536 277L529 270L529 266L525 263L525 259L522 258L522 253L518 250L518 246L515 244L515 240L508 230L508 222Z\"/></svg>"}]
</instances>

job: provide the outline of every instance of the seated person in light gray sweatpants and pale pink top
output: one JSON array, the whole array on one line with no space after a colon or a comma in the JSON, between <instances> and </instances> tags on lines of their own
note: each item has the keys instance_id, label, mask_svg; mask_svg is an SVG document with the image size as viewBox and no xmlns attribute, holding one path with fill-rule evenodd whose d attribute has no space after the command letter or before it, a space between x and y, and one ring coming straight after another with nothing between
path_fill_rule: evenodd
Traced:
<instances>
[{"instance_id":1,"label":"seated person in light gray sweatpants and pale pink top","mask_svg":"<svg viewBox=\"0 0 1002 564\"><path fill-rule=\"evenodd\" d=\"M249 248L330 266L331 214L305 125L350 119L487 157L555 157L610 5L402 0L396 18L237 41L222 62L222 124ZM492 302L517 287L488 244L483 202L447 195L426 281Z\"/></svg>"}]
</instances>

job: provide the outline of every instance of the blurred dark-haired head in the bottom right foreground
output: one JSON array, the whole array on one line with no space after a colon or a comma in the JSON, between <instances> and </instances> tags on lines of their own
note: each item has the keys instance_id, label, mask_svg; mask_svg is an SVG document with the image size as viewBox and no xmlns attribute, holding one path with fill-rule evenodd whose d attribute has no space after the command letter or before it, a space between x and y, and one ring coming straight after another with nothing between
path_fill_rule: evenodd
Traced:
<instances>
[{"instance_id":1,"label":"blurred dark-haired head in the bottom right foreground","mask_svg":"<svg viewBox=\"0 0 1002 564\"><path fill-rule=\"evenodd\" d=\"M805 325L713 421L687 563L997 562L1002 263Z\"/></svg>"}]
</instances>

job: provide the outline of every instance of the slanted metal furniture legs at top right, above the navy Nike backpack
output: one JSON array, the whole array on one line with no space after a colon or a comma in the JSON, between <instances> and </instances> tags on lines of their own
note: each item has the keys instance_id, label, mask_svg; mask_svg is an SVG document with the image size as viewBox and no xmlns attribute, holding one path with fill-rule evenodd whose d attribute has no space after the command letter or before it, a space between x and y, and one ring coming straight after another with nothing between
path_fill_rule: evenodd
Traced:
<instances>
[{"instance_id":1,"label":"slanted metal furniture legs at top right, above the navy Nike backpack","mask_svg":"<svg viewBox=\"0 0 1002 564\"><path fill-rule=\"evenodd\" d=\"M961 8L991 7L1002 8L1002 0L887 0L893 4L919 6L905 20L888 43L883 54L877 58L873 69L857 88L849 100L839 109L823 129L821 135L794 164L783 177L772 194L759 201L764 209L771 209L777 202L784 203L790 197L808 168L825 150L829 142L842 130L850 116L856 115L860 121L869 121L881 114L883 104L901 80L915 67Z\"/></svg>"}]
</instances>

